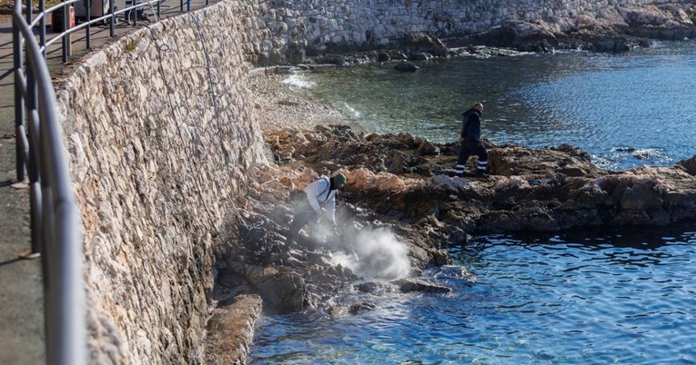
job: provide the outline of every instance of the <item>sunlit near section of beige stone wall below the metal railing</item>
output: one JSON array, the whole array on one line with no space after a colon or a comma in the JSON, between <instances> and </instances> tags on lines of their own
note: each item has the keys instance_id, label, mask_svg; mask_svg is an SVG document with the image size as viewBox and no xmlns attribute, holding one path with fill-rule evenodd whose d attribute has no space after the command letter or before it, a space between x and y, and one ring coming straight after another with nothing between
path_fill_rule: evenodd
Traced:
<instances>
[{"instance_id":1,"label":"sunlit near section of beige stone wall below the metal railing","mask_svg":"<svg viewBox=\"0 0 696 365\"><path fill-rule=\"evenodd\" d=\"M200 363L224 223L265 161L228 3L127 35L58 87L92 363Z\"/></svg>"}]
</instances>

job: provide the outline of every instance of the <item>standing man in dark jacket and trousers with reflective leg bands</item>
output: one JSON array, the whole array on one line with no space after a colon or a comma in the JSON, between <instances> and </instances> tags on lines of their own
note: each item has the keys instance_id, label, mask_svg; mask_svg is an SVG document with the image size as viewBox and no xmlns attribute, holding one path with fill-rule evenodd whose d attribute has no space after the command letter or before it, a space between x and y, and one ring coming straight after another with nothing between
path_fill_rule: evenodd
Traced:
<instances>
[{"instance_id":1,"label":"standing man in dark jacket and trousers with reflective leg bands","mask_svg":"<svg viewBox=\"0 0 696 365\"><path fill-rule=\"evenodd\" d=\"M483 104L477 103L471 106L469 110L462 113L464 120L461 127L461 135L459 143L459 160L457 161L457 176L464 175L464 166L469 160L469 156L475 153L479 156L479 163L476 169L476 176L487 177L486 168L489 165L489 153L486 147L481 143L481 113L483 113Z\"/></svg>"}]
</instances>

